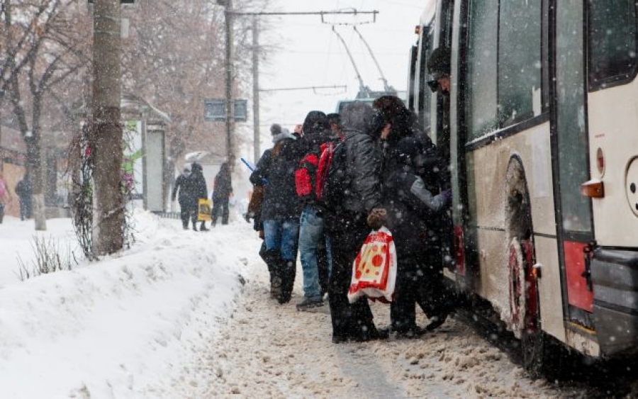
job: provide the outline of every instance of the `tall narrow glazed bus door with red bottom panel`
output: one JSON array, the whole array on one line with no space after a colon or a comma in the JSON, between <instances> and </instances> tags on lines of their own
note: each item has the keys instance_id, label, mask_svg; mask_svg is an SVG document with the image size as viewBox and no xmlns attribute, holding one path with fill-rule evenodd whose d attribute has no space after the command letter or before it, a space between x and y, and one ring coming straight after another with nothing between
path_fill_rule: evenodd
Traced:
<instances>
[{"instance_id":1,"label":"tall narrow glazed bus door with red bottom panel","mask_svg":"<svg viewBox=\"0 0 638 399\"><path fill-rule=\"evenodd\" d=\"M552 159L554 203L564 315L593 328L590 243L591 199L581 196L589 179L585 6L582 0L554 1Z\"/></svg>"}]
</instances>

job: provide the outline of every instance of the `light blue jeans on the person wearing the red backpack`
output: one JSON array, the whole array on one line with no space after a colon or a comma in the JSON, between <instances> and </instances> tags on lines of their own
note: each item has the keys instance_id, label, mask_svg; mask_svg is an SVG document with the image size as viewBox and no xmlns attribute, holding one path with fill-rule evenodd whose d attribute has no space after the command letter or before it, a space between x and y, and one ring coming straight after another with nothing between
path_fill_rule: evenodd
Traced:
<instances>
[{"instance_id":1,"label":"light blue jeans on the person wearing the red backpack","mask_svg":"<svg viewBox=\"0 0 638 399\"><path fill-rule=\"evenodd\" d=\"M328 270L332 264L330 240L323 229L323 218L314 206L307 205L301 213L299 227L299 254L301 269L303 270L303 296L306 298L320 298L319 270L317 267L317 247L325 241L325 251L328 255Z\"/></svg>"}]
</instances>

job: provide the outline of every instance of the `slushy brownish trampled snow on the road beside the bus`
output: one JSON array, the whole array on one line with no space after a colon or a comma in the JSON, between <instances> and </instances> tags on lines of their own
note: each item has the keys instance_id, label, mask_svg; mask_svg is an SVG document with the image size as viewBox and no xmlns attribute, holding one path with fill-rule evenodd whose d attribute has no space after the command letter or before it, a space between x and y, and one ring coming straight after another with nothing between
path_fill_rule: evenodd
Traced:
<instances>
[{"instance_id":1,"label":"slushy brownish trampled snow on the road beside the bus","mask_svg":"<svg viewBox=\"0 0 638 399\"><path fill-rule=\"evenodd\" d=\"M257 248L255 248L256 251ZM249 255L254 274L237 311L178 379L184 396L217 398L549 398L585 397L583 390L531 381L508 356L457 320L421 339L332 344L328 306L302 313L268 298L264 264ZM298 271L298 279L301 270ZM377 325L387 305L374 305ZM421 319L420 323L425 324ZM176 381L178 383L178 381Z\"/></svg>"}]
</instances>

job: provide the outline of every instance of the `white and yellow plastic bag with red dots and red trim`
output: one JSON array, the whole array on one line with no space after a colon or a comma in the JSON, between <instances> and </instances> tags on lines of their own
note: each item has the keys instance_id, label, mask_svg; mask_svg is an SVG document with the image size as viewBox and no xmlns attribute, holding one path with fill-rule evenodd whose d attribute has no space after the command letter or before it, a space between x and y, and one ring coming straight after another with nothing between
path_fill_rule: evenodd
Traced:
<instances>
[{"instance_id":1,"label":"white and yellow plastic bag with red dots and red trim","mask_svg":"<svg viewBox=\"0 0 638 399\"><path fill-rule=\"evenodd\" d=\"M391 302L396 283L396 247L386 227L371 231L352 264L348 300L362 296Z\"/></svg>"}]
</instances>

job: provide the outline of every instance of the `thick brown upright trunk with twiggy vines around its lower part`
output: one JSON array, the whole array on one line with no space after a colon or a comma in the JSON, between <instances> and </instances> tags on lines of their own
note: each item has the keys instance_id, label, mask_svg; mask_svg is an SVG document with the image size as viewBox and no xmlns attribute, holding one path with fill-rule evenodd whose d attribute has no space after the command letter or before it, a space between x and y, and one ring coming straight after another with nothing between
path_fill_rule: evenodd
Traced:
<instances>
[{"instance_id":1,"label":"thick brown upright trunk with twiggy vines around its lower part","mask_svg":"<svg viewBox=\"0 0 638 399\"><path fill-rule=\"evenodd\" d=\"M120 0L96 0L91 151L95 160L94 252L112 254L124 245Z\"/></svg>"}]
</instances>

